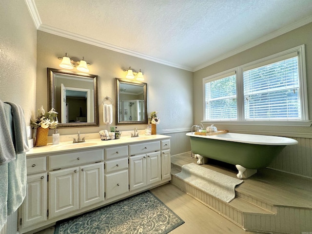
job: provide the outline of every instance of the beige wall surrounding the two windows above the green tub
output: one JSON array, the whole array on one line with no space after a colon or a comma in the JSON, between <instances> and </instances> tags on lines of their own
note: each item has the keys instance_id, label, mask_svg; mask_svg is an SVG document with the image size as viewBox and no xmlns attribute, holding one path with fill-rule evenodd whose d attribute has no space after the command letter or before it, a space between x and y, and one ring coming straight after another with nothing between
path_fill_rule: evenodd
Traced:
<instances>
[{"instance_id":1,"label":"beige wall surrounding the two windows above the green tub","mask_svg":"<svg viewBox=\"0 0 312 234\"><path fill-rule=\"evenodd\" d=\"M307 70L307 87L308 87L308 103L312 103L312 23L292 30L289 33L271 39L258 46L234 55L230 58L216 62L194 73L194 113L195 122L203 119L203 91L202 79L217 74L222 71L234 68L236 66L246 64L248 62L261 59L278 52L293 48L298 45L306 45L306 70ZM309 117L312 118L312 108L309 110ZM281 126L246 126L246 125L220 125L215 124L219 128L234 131L248 131L249 133L261 133L270 135L282 135L289 137L312 137L311 127L281 127Z\"/></svg>"}]
</instances>

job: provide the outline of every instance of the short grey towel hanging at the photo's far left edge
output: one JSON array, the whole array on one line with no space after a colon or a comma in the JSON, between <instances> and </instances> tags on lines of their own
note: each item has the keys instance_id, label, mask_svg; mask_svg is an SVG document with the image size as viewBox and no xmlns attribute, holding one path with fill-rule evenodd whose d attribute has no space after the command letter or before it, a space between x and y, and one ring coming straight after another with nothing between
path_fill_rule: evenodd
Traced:
<instances>
[{"instance_id":1,"label":"short grey towel hanging at the photo's far left edge","mask_svg":"<svg viewBox=\"0 0 312 234\"><path fill-rule=\"evenodd\" d=\"M11 108L0 100L0 165L15 159L15 150L10 134Z\"/></svg>"}]
</instances>

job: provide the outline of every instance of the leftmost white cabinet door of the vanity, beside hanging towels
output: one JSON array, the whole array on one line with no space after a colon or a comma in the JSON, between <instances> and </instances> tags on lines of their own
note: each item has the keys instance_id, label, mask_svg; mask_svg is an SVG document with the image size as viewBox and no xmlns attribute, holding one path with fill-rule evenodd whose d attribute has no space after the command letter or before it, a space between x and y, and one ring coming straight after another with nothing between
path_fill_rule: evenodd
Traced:
<instances>
[{"instance_id":1,"label":"leftmost white cabinet door of the vanity, beside hanging towels","mask_svg":"<svg viewBox=\"0 0 312 234\"><path fill-rule=\"evenodd\" d=\"M26 197L22 204L22 226L47 220L47 174L27 176Z\"/></svg>"}]
</instances>

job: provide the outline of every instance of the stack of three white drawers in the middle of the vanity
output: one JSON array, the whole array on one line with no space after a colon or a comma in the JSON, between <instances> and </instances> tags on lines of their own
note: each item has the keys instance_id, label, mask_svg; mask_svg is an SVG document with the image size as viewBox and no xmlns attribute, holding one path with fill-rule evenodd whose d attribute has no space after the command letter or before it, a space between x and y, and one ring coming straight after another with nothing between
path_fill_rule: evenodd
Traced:
<instances>
[{"instance_id":1,"label":"stack of three white drawers in the middle of the vanity","mask_svg":"<svg viewBox=\"0 0 312 234\"><path fill-rule=\"evenodd\" d=\"M128 145L105 149L105 197L129 192Z\"/></svg>"}]
</instances>

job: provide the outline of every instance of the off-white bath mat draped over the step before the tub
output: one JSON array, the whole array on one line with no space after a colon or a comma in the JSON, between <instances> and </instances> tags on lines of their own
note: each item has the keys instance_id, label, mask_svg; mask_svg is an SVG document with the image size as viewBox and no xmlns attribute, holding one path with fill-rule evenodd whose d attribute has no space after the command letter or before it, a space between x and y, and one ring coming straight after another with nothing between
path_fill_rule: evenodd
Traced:
<instances>
[{"instance_id":1,"label":"off-white bath mat draped over the step before the tub","mask_svg":"<svg viewBox=\"0 0 312 234\"><path fill-rule=\"evenodd\" d=\"M225 202L234 199L235 186L243 182L195 163L183 165L182 171L176 176Z\"/></svg>"}]
</instances>

